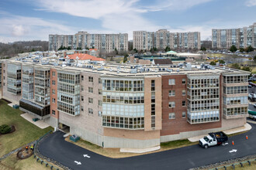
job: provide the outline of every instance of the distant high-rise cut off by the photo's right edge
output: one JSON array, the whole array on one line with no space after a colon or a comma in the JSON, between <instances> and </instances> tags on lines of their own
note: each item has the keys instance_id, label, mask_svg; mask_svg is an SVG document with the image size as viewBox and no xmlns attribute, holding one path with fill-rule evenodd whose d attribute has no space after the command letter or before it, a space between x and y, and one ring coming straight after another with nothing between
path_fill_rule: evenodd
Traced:
<instances>
[{"instance_id":1,"label":"distant high-rise cut off by the photo's right edge","mask_svg":"<svg viewBox=\"0 0 256 170\"><path fill-rule=\"evenodd\" d=\"M212 47L229 49L237 46L237 49L252 46L256 48L256 22L252 26L240 29L212 29Z\"/></svg>"}]
</instances>

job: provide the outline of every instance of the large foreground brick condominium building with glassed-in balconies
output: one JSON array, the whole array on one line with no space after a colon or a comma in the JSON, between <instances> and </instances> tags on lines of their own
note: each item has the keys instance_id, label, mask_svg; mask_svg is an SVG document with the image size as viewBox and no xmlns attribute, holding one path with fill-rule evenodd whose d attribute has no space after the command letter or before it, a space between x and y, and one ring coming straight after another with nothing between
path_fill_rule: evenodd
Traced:
<instances>
[{"instance_id":1,"label":"large foreground brick condominium building with glassed-in balconies","mask_svg":"<svg viewBox=\"0 0 256 170\"><path fill-rule=\"evenodd\" d=\"M2 61L2 97L104 148L150 148L246 124L242 70L32 61Z\"/></svg>"}]
</instances>

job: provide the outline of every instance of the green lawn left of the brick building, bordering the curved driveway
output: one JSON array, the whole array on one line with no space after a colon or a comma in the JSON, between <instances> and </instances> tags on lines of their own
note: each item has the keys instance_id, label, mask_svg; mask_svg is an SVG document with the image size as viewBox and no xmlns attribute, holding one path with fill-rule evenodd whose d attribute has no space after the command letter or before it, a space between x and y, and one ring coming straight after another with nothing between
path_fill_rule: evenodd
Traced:
<instances>
[{"instance_id":1,"label":"green lawn left of the brick building, bordering the curved driveway","mask_svg":"<svg viewBox=\"0 0 256 170\"><path fill-rule=\"evenodd\" d=\"M0 157L13 149L19 148L46 134L53 128L40 129L20 116L22 111L13 109L5 100L0 100L0 124L14 125L16 131L12 134L0 135Z\"/></svg>"}]
</instances>

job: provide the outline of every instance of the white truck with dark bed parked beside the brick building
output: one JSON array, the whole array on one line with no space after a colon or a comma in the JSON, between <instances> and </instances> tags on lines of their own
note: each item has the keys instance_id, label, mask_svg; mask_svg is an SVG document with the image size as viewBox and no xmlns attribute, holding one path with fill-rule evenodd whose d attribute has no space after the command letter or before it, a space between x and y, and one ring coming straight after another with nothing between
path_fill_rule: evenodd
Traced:
<instances>
[{"instance_id":1,"label":"white truck with dark bed parked beside the brick building","mask_svg":"<svg viewBox=\"0 0 256 170\"><path fill-rule=\"evenodd\" d=\"M219 131L216 133L209 133L208 136L201 138L199 140L199 145L202 146L202 148L209 148L210 146L225 145L227 140L227 135L224 134L223 131Z\"/></svg>"}]
</instances>

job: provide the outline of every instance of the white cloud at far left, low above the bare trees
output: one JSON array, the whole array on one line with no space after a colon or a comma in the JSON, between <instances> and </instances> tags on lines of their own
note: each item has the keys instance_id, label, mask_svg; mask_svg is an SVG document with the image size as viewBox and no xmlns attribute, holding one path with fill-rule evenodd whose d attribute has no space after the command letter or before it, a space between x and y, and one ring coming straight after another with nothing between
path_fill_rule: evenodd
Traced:
<instances>
[{"instance_id":1,"label":"white cloud at far left, low above the bare trees","mask_svg":"<svg viewBox=\"0 0 256 170\"><path fill-rule=\"evenodd\" d=\"M74 28L70 26L35 17L4 15L4 17L0 18L0 23L0 42L34 39L47 40L49 34L74 33Z\"/></svg>"}]
</instances>

